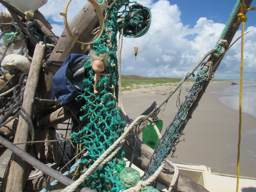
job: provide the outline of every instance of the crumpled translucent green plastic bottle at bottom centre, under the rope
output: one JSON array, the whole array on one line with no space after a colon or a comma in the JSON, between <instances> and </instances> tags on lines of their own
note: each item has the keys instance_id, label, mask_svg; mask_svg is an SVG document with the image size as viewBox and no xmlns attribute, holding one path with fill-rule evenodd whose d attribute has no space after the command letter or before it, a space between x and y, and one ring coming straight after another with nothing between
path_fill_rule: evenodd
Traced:
<instances>
[{"instance_id":1,"label":"crumpled translucent green plastic bottle at bottom centre, under the rope","mask_svg":"<svg viewBox=\"0 0 256 192\"><path fill-rule=\"evenodd\" d=\"M124 165L118 163L116 169L125 189L135 187L141 180L139 172L132 167L124 167ZM152 186L146 186L141 190L141 192L159 192L159 190Z\"/></svg>"}]
</instances>

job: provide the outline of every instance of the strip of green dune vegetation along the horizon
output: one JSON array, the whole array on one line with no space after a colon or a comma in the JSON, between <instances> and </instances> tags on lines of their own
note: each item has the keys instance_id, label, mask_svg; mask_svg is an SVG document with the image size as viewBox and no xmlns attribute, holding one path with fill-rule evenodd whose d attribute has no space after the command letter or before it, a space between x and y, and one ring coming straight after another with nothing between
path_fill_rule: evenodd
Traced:
<instances>
[{"instance_id":1,"label":"strip of green dune vegetation along the horizon","mask_svg":"<svg viewBox=\"0 0 256 192\"><path fill-rule=\"evenodd\" d=\"M121 75L122 90L138 89L143 86L159 86L159 85L177 85L181 78L167 78L167 77L142 77L137 75ZM191 80L191 79L190 79ZM189 79L187 80L189 81Z\"/></svg>"}]
</instances>

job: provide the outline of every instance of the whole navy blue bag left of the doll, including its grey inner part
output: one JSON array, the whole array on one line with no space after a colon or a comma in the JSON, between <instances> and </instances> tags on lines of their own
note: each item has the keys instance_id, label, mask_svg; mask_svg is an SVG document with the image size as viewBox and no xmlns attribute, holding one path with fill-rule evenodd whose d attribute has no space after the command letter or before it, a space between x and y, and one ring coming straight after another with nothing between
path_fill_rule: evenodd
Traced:
<instances>
[{"instance_id":1,"label":"whole navy blue bag left of the doll, including its grey inner part","mask_svg":"<svg viewBox=\"0 0 256 192\"><path fill-rule=\"evenodd\" d=\"M61 106L74 105L76 97L83 92L83 86L74 85L74 80L86 78L83 65L89 57L84 54L69 54L52 79L52 100L57 99Z\"/></svg>"}]
</instances>

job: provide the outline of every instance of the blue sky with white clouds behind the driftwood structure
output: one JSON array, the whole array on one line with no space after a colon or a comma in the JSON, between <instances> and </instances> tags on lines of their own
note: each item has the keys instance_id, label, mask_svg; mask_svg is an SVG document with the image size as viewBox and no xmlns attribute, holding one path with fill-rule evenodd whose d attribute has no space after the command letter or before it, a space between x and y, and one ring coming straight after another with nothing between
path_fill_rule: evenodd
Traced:
<instances>
[{"instance_id":1,"label":"blue sky with white clouds behind the driftwood structure","mask_svg":"<svg viewBox=\"0 0 256 192\"><path fill-rule=\"evenodd\" d=\"M54 34L63 29L66 0L48 0L39 8L52 24ZM72 0L67 16L71 19L85 0ZM152 14L148 32L139 38L124 38L121 74L147 77L184 78L200 59L215 47L236 4L236 0L137 0ZM251 7L256 7L253 1ZM4 7L0 7L4 11ZM244 79L256 79L256 11L247 12L244 40ZM241 26L234 40L241 35ZM135 60L134 47L138 47ZM227 52L218 67L216 79L240 78L241 41ZM196 74L196 73L195 73Z\"/></svg>"}]
</instances>

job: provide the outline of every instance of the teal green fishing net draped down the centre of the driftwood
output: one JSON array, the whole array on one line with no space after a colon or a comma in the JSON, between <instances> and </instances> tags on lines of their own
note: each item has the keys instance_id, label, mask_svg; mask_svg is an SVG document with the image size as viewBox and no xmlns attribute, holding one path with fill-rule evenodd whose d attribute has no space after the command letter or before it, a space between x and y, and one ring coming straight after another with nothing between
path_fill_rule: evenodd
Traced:
<instances>
[{"instance_id":1,"label":"teal green fishing net draped down the centre of the driftwood","mask_svg":"<svg viewBox=\"0 0 256 192\"><path fill-rule=\"evenodd\" d=\"M88 61L84 65L88 78L83 80L84 94L78 96L77 100L85 101L85 105L81 107L83 115L80 116L80 121L88 123L79 132L73 132L71 135L73 143L88 150L88 157L81 160L83 164L81 172L90 167L124 132L125 122L119 115L120 108L117 105L118 69L116 53L118 28L125 27L125 25L122 22L122 25L118 27L117 19L125 17L129 3L129 1L124 1L123 4L115 3L114 6L106 9L107 18L103 35L92 46L97 55L107 54L109 57L103 73L110 74L110 77L101 76L97 82L97 91L99 92L97 94L93 91L95 71L92 70L92 62ZM118 12L121 6L124 7L124 11ZM119 150L113 159L87 177L83 185L99 192L124 189L119 181L118 173L115 172L117 163L125 164L123 158L124 151ZM115 173L113 174L113 172Z\"/></svg>"}]
</instances>

